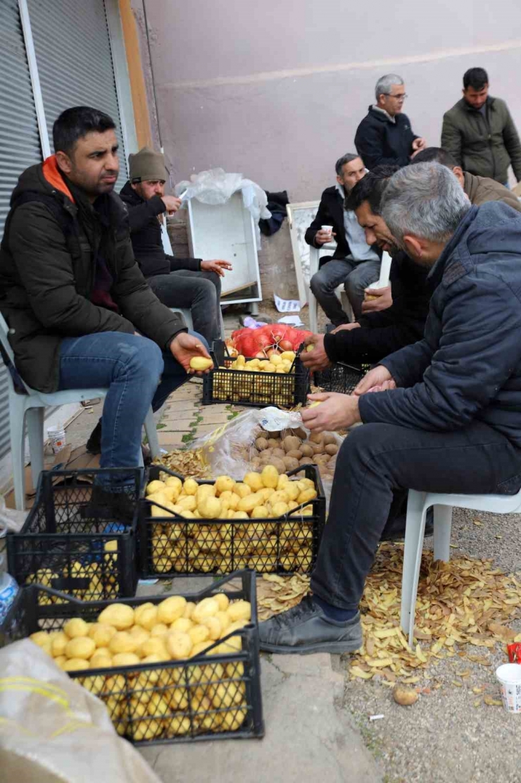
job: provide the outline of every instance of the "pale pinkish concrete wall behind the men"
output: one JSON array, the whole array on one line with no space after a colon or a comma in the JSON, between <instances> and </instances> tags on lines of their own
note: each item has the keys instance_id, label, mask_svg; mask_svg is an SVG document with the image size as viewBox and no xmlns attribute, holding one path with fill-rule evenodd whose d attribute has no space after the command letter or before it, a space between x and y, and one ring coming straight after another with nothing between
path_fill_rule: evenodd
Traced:
<instances>
[{"instance_id":1,"label":"pale pinkish concrete wall behind the men","mask_svg":"<svg viewBox=\"0 0 521 783\"><path fill-rule=\"evenodd\" d=\"M519 0L132 0L142 32L143 2L174 182L221 166L318 198L392 71L429 144L476 65L521 128Z\"/></svg>"}]
</instances>

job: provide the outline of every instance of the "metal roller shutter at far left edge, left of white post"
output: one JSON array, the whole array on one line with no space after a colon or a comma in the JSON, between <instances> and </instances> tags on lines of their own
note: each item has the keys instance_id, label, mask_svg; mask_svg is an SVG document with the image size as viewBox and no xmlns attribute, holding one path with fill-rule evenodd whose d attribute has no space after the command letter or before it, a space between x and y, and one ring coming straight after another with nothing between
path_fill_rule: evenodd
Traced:
<instances>
[{"instance_id":1,"label":"metal roller shutter at far left edge, left of white post","mask_svg":"<svg viewBox=\"0 0 521 783\"><path fill-rule=\"evenodd\" d=\"M9 198L23 169L41 162L31 76L16 0L0 3L0 236ZM0 459L9 452L9 404L0 363Z\"/></svg>"}]
</instances>

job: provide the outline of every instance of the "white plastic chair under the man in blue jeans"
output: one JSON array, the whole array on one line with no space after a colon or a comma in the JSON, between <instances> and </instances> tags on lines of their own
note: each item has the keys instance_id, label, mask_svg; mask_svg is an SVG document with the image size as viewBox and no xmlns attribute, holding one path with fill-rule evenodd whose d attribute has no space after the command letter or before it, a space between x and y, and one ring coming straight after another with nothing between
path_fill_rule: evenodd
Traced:
<instances>
[{"instance_id":1,"label":"white plastic chair under the man in blue jeans","mask_svg":"<svg viewBox=\"0 0 521 783\"><path fill-rule=\"evenodd\" d=\"M38 477L44 467L44 413L45 408L66 405L68 402L81 402L85 399L105 397L108 389L86 388L66 389L55 391L53 394L44 394L27 386L15 370L13 349L9 345L7 335L9 327L0 314L0 343L3 352L7 356L5 366L9 387L9 428L11 436L11 456L13 458L13 483L15 490L15 505L19 511L25 507L25 471L24 471L24 435L27 422L27 438L31 454L31 474L33 485L38 484ZM4 357L5 360L5 357ZM24 388L27 393L17 391L11 371L16 373L19 379L19 388ZM146 437L149 441L150 452L153 457L160 456L159 440L157 438L156 424L154 422L152 408L146 414Z\"/></svg>"}]
</instances>

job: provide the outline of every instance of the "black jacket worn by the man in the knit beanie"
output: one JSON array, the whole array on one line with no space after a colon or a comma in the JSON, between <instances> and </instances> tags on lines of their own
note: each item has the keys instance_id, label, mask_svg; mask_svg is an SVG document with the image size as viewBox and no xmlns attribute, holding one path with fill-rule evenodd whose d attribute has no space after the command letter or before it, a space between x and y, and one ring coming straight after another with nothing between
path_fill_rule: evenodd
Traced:
<instances>
[{"instance_id":1,"label":"black jacket worn by the man in the knit beanie","mask_svg":"<svg viewBox=\"0 0 521 783\"><path fill-rule=\"evenodd\" d=\"M200 258L174 258L163 250L161 226L157 215L162 215L166 207L160 196L153 196L146 201L135 192L130 182L126 182L120 190L120 197L128 209L135 260L146 277L167 275L178 269L200 271Z\"/></svg>"}]
</instances>

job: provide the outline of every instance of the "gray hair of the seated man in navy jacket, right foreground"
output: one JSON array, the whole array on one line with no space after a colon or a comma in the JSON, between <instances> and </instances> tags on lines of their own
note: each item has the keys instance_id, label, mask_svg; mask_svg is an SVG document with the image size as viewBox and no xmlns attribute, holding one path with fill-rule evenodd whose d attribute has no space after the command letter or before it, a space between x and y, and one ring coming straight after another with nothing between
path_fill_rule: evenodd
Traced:
<instances>
[{"instance_id":1,"label":"gray hair of the seated man in navy jacket, right foreground","mask_svg":"<svg viewBox=\"0 0 521 783\"><path fill-rule=\"evenodd\" d=\"M452 171L440 163L419 163L390 178L382 197L382 217L403 248L406 234L447 242L470 206Z\"/></svg>"}]
</instances>

